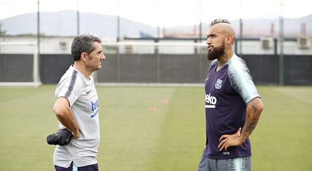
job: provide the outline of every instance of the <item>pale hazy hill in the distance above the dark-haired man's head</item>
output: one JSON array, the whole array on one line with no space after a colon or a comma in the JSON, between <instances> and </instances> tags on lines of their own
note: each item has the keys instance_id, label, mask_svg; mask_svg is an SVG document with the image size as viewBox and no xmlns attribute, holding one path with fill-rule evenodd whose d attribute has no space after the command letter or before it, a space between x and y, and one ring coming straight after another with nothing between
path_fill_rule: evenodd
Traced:
<instances>
[{"instance_id":1,"label":"pale hazy hill in the distance above the dark-haired man's head","mask_svg":"<svg viewBox=\"0 0 312 171\"><path fill-rule=\"evenodd\" d=\"M2 30L16 36L37 33L37 14L21 14L5 18ZM140 32L156 36L156 28L120 18L121 36L139 37ZM77 34L77 12L41 12L40 33L46 36L74 36ZM95 34L101 38L117 37L117 16L80 12L80 34Z\"/></svg>"}]
</instances>

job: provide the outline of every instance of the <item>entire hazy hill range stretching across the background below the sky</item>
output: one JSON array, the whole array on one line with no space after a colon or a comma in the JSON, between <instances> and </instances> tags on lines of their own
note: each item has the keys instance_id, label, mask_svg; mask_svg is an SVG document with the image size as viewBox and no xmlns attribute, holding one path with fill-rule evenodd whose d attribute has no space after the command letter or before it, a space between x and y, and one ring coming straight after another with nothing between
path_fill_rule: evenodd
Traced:
<instances>
[{"instance_id":1,"label":"entire hazy hill range stretching across the background below the sky","mask_svg":"<svg viewBox=\"0 0 312 171\"><path fill-rule=\"evenodd\" d=\"M1 31L6 34L16 36L22 34L36 34L37 14L21 14L5 18ZM41 12L40 32L46 36L74 36L77 34L77 12ZM278 18L276 19L256 19L243 20L243 36L278 36ZM239 35L239 21L231 21ZM301 18L285 18L285 37L298 37L302 34L302 23L305 25L306 36L312 36L312 14ZM202 34L206 37L209 24L202 24ZM120 35L139 38L142 36L156 37L157 27L152 27L143 23L137 23L125 18L120 18ZM167 27L160 29L160 36L176 37L198 37L197 26L187 27ZM117 16L104 14L80 12L80 34L95 34L105 40L116 40L117 38Z\"/></svg>"}]
</instances>

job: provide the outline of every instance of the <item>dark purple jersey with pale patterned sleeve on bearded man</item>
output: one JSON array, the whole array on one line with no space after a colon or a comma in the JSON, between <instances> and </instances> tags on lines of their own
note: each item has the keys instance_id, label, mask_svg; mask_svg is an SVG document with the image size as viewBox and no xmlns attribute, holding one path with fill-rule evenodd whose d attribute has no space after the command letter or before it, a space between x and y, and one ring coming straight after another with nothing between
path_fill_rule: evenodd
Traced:
<instances>
[{"instance_id":1,"label":"dark purple jersey with pale patterned sleeve on bearded man","mask_svg":"<svg viewBox=\"0 0 312 171\"><path fill-rule=\"evenodd\" d=\"M246 104L259 96L245 62L237 55L216 72L217 60L211 62L206 77L206 148L211 159L250 157L250 141L241 146L230 146L227 151L218 148L219 138L235 134L245 123Z\"/></svg>"}]
</instances>

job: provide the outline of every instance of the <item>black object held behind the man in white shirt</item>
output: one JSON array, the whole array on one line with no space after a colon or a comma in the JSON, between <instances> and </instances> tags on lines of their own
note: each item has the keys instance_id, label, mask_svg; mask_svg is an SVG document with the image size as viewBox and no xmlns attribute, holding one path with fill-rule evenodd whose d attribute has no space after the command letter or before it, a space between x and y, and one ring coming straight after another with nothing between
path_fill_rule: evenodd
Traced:
<instances>
[{"instance_id":1,"label":"black object held behind the man in white shirt","mask_svg":"<svg viewBox=\"0 0 312 171\"><path fill-rule=\"evenodd\" d=\"M71 142L72 133L68 129L59 129L58 132L47 136L47 143L64 146Z\"/></svg>"}]
</instances>

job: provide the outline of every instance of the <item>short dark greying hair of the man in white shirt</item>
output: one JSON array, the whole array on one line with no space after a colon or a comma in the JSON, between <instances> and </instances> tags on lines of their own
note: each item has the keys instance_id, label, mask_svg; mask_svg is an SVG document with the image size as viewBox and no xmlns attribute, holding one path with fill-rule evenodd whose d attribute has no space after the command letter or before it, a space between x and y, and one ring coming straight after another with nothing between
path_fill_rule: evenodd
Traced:
<instances>
[{"instance_id":1,"label":"short dark greying hair of the man in white shirt","mask_svg":"<svg viewBox=\"0 0 312 171\"><path fill-rule=\"evenodd\" d=\"M82 53L91 53L95 47L93 42L101 43L101 39L90 34L80 34L73 39L71 44L71 55L74 61L79 61Z\"/></svg>"}]
</instances>

